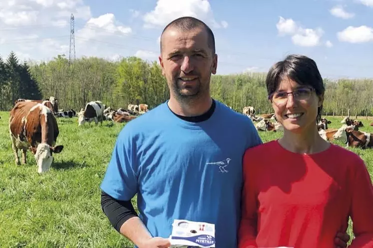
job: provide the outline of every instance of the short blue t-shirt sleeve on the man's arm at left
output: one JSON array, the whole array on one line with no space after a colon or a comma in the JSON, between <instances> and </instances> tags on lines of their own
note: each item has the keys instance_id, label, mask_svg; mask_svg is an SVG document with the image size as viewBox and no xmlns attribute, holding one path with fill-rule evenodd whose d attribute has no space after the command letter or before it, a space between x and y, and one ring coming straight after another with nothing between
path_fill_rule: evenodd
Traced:
<instances>
[{"instance_id":1,"label":"short blue t-shirt sleeve on the man's arm at left","mask_svg":"<svg viewBox=\"0 0 373 248\"><path fill-rule=\"evenodd\" d=\"M133 136L129 125L119 133L100 186L106 194L121 201L132 199L138 188L136 142Z\"/></svg>"}]
</instances>

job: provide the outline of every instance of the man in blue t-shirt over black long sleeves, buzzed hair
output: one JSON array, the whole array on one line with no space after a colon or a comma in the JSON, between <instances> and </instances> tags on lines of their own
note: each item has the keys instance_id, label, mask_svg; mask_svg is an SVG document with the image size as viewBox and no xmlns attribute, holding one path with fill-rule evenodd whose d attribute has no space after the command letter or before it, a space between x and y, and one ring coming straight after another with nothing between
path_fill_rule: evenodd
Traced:
<instances>
[{"instance_id":1,"label":"man in blue t-shirt over black long sleeves, buzzed hair","mask_svg":"<svg viewBox=\"0 0 373 248\"><path fill-rule=\"evenodd\" d=\"M216 227L216 247L237 247L242 157L262 143L244 115L213 100L211 29L193 17L169 23L159 61L170 99L123 128L101 184L104 213L139 248L170 246L174 219ZM130 200L137 194L139 216Z\"/></svg>"}]
</instances>

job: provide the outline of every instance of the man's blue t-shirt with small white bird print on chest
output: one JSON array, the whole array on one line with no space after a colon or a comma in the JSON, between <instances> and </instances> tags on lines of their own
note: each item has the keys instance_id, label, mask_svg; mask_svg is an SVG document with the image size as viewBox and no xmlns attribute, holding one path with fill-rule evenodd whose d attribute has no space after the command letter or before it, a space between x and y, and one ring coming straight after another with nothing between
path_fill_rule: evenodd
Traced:
<instances>
[{"instance_id":1,"label":"man's blue t-shirt with small white bird print on chest","mask_svg":"<svg viewBox=\"0 0 373 248\"><path fill-rule=\"evenodd\" d=\"M251 120L216 101L212 116L188 122L167 102L119 133L101 189L128 201L153 237L168 238L174 219L215 224L216 248L237 247L242 158L262 144Z\"/></svg>"}]
</instances>

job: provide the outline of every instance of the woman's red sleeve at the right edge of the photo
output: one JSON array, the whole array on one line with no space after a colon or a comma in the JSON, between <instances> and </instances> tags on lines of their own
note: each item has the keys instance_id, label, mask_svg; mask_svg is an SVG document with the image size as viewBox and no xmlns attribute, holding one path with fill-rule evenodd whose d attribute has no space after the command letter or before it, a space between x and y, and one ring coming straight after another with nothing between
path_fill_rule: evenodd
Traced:
<instances>
[{"instance_id":1,"label":"woman's red sleeve at the right edge of the photo","mask_svg":"<svg viewBox=\"0 0 373 248\"><path fill-rule=\"evenodd\" d=\"M352 202L350 216L355 239L349 248L373 247L373 185L363 160L352 173Z\"/></svg>"}]
</instances>

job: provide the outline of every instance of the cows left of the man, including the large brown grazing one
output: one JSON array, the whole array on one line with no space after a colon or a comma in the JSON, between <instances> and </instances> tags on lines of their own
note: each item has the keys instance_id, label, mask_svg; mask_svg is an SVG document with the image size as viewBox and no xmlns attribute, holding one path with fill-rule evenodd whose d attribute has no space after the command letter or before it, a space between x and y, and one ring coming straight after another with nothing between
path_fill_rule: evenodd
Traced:
<instances>
[{"instance_id":1,"label":"cows left of the man, including the large brown grazing one","mask_svg":"<svg viewBox=\"0 0 373 248\"><path fill-rule=\"evenodd\" d=\"M127 122L148 111L148 105L128 105L128 109L114 110L100 101L91 101L77 113L78 126L103 120ZM63 145L55 146L59 135L56 118L76 116L73 109L58 109L57 98L48 100L17 99L9 116L9 133L14 152L15 163L20 165L18 150L22 150L22 164L26 163L26 152L31 151L37 164L37 172L49 170L53 162L53 153L60 153Z\"/></svg>"}]
</instances>

